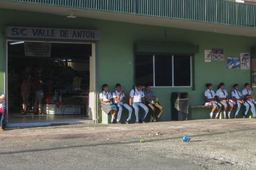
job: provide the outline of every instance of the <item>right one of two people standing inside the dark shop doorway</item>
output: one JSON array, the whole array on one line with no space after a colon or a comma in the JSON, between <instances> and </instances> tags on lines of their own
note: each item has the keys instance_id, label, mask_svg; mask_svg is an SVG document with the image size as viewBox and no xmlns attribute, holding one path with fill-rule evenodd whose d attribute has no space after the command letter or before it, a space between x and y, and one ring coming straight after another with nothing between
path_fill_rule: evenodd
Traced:
<instances>
[{"instance_id":1,"label":"right one of two people standing inside the dark shop doorway","mask_svg":"<svg viewBox=\"0 0 256 170\"><path fill-rule=\"evenodd\" d=\"M43 90L43 67L40 67L36 71L34 76L34 89L35 89L35 103L34 103L34 114L42 114L42 101L44 97ZM38 111L37 111L38 108Z\"/></svg>"}]
</instances>

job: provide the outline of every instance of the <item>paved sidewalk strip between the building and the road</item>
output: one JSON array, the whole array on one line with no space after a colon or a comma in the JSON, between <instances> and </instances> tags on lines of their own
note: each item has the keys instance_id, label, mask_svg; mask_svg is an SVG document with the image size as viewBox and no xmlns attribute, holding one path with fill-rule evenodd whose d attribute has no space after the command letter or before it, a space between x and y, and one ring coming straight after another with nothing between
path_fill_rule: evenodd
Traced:
<instances>
[{"instance_id":1,"label":"paved sidewalk strip between the building and the road","mask_svg":"<svg viewBox=\"0 0 256 170\"><path fill-rule=\"evenodd\" d=\"M255 119L193 120L152 122L146 124L67 125L40 128L16 128L0 132L0 141L31 141L122 135L159 135L188 133L191 131L218 131L256 128Z\"/></svg>"}]
</instances>

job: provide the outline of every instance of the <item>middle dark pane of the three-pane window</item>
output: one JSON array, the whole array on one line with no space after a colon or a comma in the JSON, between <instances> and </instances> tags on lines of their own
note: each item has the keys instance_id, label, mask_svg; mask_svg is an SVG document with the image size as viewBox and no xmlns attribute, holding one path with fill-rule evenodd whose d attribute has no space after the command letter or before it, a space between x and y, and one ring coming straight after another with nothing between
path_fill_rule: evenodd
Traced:
<instances>
[{"instance_id":1,"label":"middle dark pane of the three-pane window","mask_svg":"<svg viewBox=\"0 0 256 170\"><path fill-rule=\"evenodd\" d=\"M155 56L155 86L172 86L171 56Z\"/></svg>"}]
</instances>

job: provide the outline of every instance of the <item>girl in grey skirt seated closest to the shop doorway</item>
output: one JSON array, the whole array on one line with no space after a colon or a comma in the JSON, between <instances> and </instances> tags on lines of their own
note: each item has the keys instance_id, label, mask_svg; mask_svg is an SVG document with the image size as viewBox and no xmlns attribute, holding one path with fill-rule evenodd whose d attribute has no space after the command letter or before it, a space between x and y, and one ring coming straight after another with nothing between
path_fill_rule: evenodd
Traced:
<instances>
[{"instance_id":1,"label":"girl in grey skirt seated closest to the shop doorway","mask_svg":"<svg viewBox=\"0 0 256 170\"><path fill-rule=\"evenodd\" d=\"M112 105L112 95L109 92L109 85L103 84L102 92L100 93L101 108L106 114L111 114L111 124L114 123L115 113L117 112L117 107Z\"/></svg>"}]
</instances>

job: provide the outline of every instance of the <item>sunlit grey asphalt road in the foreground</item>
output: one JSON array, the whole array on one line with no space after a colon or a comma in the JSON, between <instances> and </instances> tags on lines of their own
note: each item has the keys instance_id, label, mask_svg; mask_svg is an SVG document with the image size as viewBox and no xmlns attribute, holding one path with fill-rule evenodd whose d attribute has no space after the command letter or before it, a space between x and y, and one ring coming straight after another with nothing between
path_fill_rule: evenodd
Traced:
<instances>
[{"instance_id":1,"label":"sunlit grey asphalt road in the foreground","mask_svg":"<svg viewBox=\"0 0 256 170\"><path fill-rule=\"evenodd\" d=\"M1 169L255 169L256 129L0 141ZM182 142L189 135L191 142ZM141 138L144 143L139 142Z\"/></svg>"}]
</instances>

